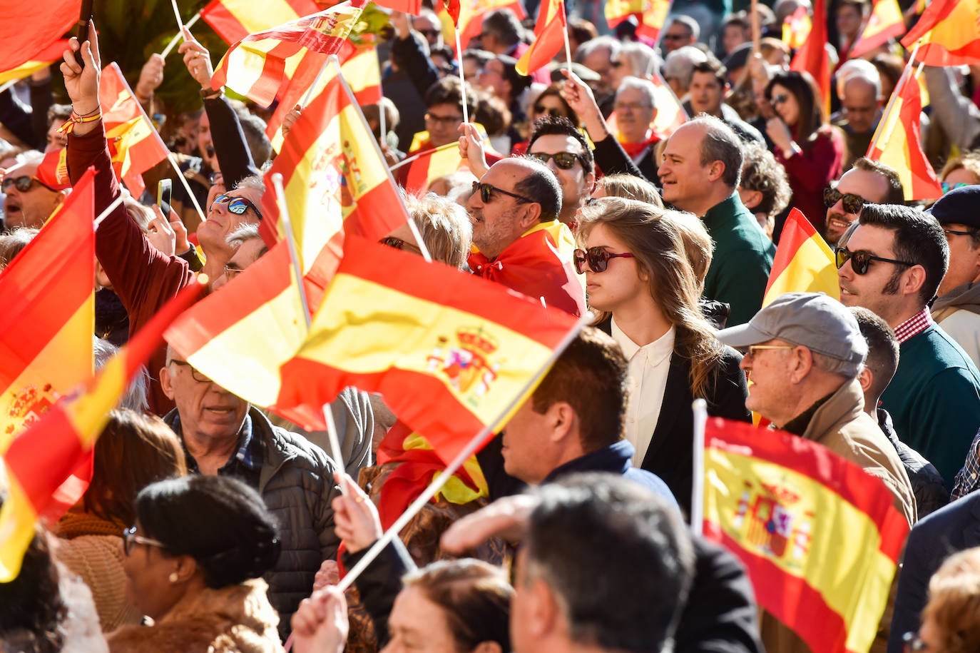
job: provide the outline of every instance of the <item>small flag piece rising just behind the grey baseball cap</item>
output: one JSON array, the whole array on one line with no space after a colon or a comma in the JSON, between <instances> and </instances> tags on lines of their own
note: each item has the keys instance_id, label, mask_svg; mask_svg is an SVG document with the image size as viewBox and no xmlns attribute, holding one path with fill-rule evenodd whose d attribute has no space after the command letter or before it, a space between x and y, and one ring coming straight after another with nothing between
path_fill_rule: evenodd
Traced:
<instances>
[{"instance_id":1,"label":"small flag piece rising just behind the grey baseball cap","mask_svg":"<svg viewBox=\"0 0 980 653\"><path fill-rule=\"evenodd\" d=\"M799 209L790 211L783 226L762 306L787 292L822 292L841 298L834 253Z\"/></svg>"}]
</instances>

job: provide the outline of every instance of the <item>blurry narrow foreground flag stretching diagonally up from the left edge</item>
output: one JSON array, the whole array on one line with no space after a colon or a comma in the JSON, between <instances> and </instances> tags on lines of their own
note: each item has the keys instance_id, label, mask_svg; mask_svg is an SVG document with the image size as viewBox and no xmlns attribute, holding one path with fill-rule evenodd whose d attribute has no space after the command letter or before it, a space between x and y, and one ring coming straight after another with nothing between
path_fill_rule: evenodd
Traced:
<instances>
[{"instance_id":1,"label":"blurry narrow foreground flag stretching diagonally up from the left edge","mask_svg":"<svg viewBox=\"0 0 980 653\"><path fill-rule=\"evenodd\" d=\"M94 261L94 256L89 260ZM119 403L126 385L156 350L164 328L193 303L202 288L203 284L195 284L182 290L130 338L80 394L63 399L4 453L10 494L0 506L0 582L9 582L21 573L38 516L50 516L59 487L91 460L95 440L109 422L109 412Z\"/></svg>"}]
</instances>

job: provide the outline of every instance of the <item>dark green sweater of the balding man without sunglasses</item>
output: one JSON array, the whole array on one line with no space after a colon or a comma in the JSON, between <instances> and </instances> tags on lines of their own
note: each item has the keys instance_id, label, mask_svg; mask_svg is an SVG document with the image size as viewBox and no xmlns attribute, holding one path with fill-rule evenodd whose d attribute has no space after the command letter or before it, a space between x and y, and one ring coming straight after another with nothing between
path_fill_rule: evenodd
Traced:
<instances>
[{"instance_id":1,"label":"dark green sweater of the balding man without sunglasses","mask_svg":"<svg viewBox=\"0 0 980 653\"><path fill-rule=\"evenodd\" d=\"M704 297L731 306L725 326L747 323L762 307L776 247L765 237L738 193L712 206L703 220L714 240Z\"/></svg>"}]
</instances>

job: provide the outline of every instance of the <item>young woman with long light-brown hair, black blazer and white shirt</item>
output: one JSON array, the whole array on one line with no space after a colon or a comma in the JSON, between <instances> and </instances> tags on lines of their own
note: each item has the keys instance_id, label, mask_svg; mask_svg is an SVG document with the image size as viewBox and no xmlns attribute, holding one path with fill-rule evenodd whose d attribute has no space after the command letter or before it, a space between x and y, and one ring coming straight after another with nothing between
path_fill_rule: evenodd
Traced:
<instances>
[{"instance_id":1,"label":"young woman with long light-brown hair, black blazer and white shirt","mask_svg":"<svg viewBox=\"0 0 980 653\"><path fill-rule=\"evenodd\" d=\"M710 415L749 421L741 356L722 345L698 303L702 279L685 247L683 216L607 197L582 210L575 265L586 276L596 326L629 360L626 437L633 464L653 472L690 513L691 402ZM707 271L709 261L699 262Z\"/></svg>"}]
</instances>

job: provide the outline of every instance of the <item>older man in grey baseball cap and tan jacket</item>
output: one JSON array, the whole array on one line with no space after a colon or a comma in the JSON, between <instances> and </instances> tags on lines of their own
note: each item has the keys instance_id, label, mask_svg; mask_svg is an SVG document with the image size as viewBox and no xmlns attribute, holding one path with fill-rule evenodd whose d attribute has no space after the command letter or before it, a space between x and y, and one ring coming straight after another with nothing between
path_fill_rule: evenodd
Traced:
<instances>
[{"instance_id":1,"label":"older man in grey baseball cap and tan jacket","mask_svg":"<svg viewBox=\"0 0 980 653\"><path fill-rule=\"evenodd\" d=\"M718 331L718 339L746 352L742 369L750 380L748 408L880 478L908 525L915 522L915 499L902 460L864 412L858 373L867 343L847 308L824 294L787 293L749 324ZM765 650L809 650L766 611L761 633Z\"/></svg>"}]
</instances>

